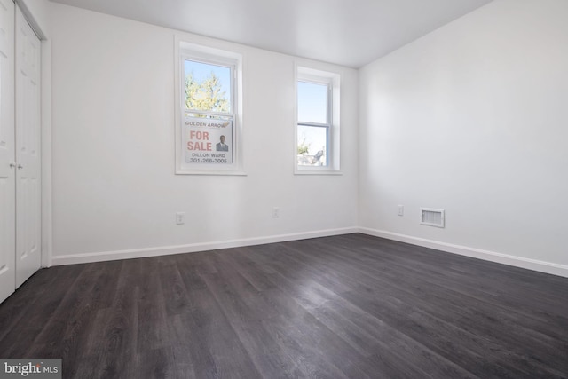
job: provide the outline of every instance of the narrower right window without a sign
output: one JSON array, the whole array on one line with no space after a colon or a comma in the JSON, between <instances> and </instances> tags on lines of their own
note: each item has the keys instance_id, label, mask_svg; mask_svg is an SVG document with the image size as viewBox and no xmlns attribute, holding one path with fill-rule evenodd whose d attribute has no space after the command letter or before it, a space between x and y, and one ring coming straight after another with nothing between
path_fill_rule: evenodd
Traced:
<instances>
[{"instance_id":1,"label":"narrower right window without a sign","mask_svg":"<svg viewBox=\"0 0 568 379\"><path fill-rule=\"evenodd\" d=\"M339 75L297 67L296 173L339 170Z\"/></svg>"}]
</instances>

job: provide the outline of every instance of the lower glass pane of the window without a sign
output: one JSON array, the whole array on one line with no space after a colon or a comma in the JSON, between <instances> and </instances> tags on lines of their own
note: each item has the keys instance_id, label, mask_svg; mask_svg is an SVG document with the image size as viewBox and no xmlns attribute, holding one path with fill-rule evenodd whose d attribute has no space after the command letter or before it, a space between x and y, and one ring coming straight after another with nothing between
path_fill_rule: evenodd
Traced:
<instances>
[{"instance_id":1,"label":"lower glass pane of the window without a sign","mask_svg":"<svg viewBox=\"0 0 568 379\"><path fill-rule=\"evenodd\" d=\"M298 125L298 165L327 166L327 128Z\"/></svg>"}]
</instances>

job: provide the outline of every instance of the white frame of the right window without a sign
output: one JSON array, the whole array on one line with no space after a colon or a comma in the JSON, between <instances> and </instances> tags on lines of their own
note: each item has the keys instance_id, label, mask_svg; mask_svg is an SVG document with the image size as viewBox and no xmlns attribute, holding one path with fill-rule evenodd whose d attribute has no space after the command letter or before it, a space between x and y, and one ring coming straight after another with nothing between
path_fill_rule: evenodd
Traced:
<instances>
[{"instance_id":1,"label":"white frame of the right window without a sign","mask_svg":"<svg viewBox=\"0 0 568 379\"><path fill-rule=\"evenodd\" d=\"M295 75L295 133L294 133L294 173L296 175L341 175L340 170L340 81L336 73L296 65ZM327 122L306 122L299 120L298 83L314 83L327 86ZM307 166L297 162L298 129L299 127L326 128L326 165Z\"/></svg>"}]
</instances>

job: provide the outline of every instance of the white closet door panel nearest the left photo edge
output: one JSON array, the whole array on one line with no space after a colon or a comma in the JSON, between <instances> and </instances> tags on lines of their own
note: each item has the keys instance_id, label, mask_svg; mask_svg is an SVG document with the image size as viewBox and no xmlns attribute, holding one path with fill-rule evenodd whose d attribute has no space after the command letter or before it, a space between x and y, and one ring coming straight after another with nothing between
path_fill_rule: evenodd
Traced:
<instances>
[{"instance_id":1,"label":"white closet door panel nearest the left photo edge","mask_svg":"<svg viewBox=\"0 0 568 379\"><path fill-rule=\"evenodd\" d=\"M15 289L14 4L0 0L0 302Z\"/></svg>"}]
</instances>

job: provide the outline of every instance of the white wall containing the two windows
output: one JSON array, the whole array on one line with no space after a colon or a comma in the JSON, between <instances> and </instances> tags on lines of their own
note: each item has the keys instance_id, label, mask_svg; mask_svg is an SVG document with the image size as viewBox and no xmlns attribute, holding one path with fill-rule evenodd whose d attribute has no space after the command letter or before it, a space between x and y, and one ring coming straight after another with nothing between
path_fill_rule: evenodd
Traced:
<instances>
[{"instance_id":1,"label":"white wall containing the two windows","mask_svg":"<svg viewBox=\"0 0 568 379\"><path fill-rule=\"evenodd\" d=\"M51 18L55 265L357 226L356 70L67 5ZM243 54L246 177L174 175L176 34ZM343 176L293 175L295 62L342 75Z\"/></svg>"}]
</instances>

